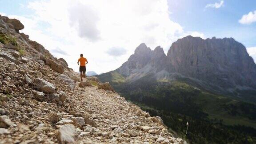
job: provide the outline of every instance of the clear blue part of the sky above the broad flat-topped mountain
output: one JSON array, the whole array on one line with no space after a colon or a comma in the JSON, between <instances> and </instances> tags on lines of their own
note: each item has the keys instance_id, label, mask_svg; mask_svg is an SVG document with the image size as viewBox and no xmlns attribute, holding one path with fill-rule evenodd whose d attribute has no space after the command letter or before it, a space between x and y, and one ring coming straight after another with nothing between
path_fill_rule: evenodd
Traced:
<instances>
[{"instance_id":1,"label":"clear blue part of the sky above the broad flat-topped mountain","mask_svg":"<svg viewBox=\"0 0 256 144\"><path fill-rule=\"evenodd\" d=\"M240 24L244 14L256 10L256 0L224 0L220 8L205 8L219 0L168 0L170 17L184 30L203 32L205 37L233 37L246 47L256 46L256 23Z\"/></svg>"}]
</instances>

